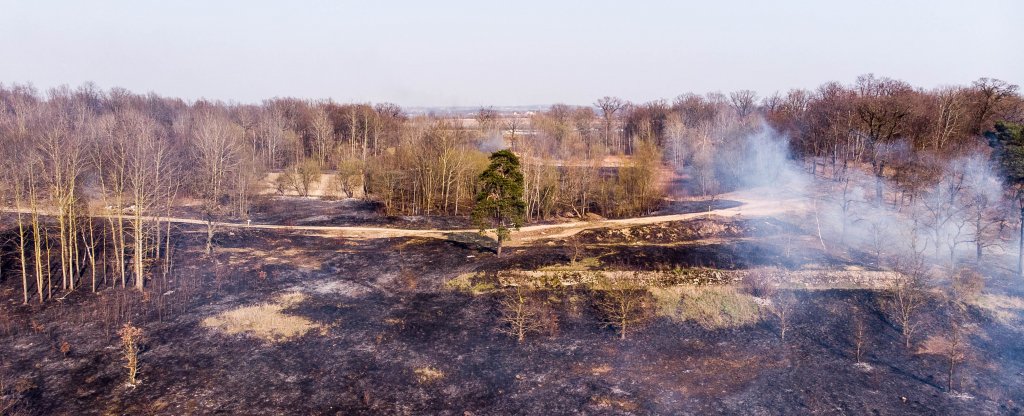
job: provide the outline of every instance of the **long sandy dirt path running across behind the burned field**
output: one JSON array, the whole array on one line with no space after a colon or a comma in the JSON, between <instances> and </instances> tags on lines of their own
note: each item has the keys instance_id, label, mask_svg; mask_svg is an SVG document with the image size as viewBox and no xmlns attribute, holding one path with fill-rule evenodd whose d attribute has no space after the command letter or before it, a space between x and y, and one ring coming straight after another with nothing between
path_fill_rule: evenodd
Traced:
<instances>
[{"instance_id":1,"label":"long sandy dirt path running across behind the burned field","mask_svg":"<svg viewBox=\"0 0 1024 416\"><path fill-rule=\"evenodd\" d=\"M621 219L602 219L596 221L578 221L554 224L527 225L519 228L513 234L512 241L508 246L519 246L537 240L564 239L575 235L584 230L603 227L625 227L632 225L643 225L659 222L681 221L701 216L735 216L744 215L750 217L771 216L788 211L806 208L806 204L799 197L790 199L779 199L778 196L768 196L765 193L758 193L758 190L744 191L741 193L730 193L722 195L722 199L737 201L739 206L710 210L707 212L694 212L686 214L654 215ZM28 210L4 209L4 212L30 213ZM49 214L49 213L42 213ZM118 215L100 215L103 218L117 218ZM121 215L124 219L133 218L131 215ZM186 223L196 225L207 225L207 222L196 218L179 217L156 217L143 216L145 221L171 221L174 223ZM379 239L394 237L426 237L436 239L449 239L456 235L476 234L476 228L454 228L454 230L413 230L413 228L390 228L384 226L350 226L350 225L281 225L265 223L246 222L222 222L215 221L217 228L254 228L254 230L283 230L315 232L330 237L346 237L359 239Z\"/></svg>"}]
</instances>

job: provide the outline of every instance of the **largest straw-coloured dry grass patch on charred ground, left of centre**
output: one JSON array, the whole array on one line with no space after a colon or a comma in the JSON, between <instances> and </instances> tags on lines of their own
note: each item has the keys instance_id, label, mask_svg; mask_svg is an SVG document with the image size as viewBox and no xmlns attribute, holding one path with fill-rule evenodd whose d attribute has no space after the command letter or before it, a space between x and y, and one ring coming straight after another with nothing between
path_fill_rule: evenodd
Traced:
<instances>
[{"instance_id":1,"label":"largest straw-coloured dry grass patch on charred ground, left of centre","mask_svg":"<svg viewBox=\"0 0 1024 416\"><path fill-rule=\"evenodd\" d=\"M313 329L325 327L303 317L287 315L284 309L305 299L300 292L278 296L272 302L243 306L203 320L203 326L225 334L248 334L269 342L284 342Z\"/></svg>"}]
</instances>

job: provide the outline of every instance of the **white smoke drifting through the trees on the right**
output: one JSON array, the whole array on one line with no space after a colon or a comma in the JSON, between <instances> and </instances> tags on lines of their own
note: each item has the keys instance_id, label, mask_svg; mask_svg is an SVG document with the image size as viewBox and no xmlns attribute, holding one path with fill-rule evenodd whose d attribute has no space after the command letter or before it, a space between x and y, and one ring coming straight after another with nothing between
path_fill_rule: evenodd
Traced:
<instances>
[{"instance_id":1,"label":"white smoke drifting through the trees on the right","mask_svg":"<svg viewBox=\"0 0 1024 416\"><path fill-rule=\"evenodd\" d=\"M877 201L876 178L866 165L842 169L839 162L833 171L825 163L827 169L812 174L792 157L787 137L764 123L731 140L733 145L716 155L719 180L779 204L792 203L795 196L809 201L795 222L820 233L831 254L878 257L885 263L886 258L920 253L933 265L952 269L975 261L981 241L984 255L1012 264L1004 248L1015 244L1007 223L1014 215L1007 212L1011 204L984 153L945 162L925 159L923 169L939 169L932 180L904 181L903 189L887 180L885 201ZM730 172L733 177L726 177Z\"/></svg>"}]
</instances>

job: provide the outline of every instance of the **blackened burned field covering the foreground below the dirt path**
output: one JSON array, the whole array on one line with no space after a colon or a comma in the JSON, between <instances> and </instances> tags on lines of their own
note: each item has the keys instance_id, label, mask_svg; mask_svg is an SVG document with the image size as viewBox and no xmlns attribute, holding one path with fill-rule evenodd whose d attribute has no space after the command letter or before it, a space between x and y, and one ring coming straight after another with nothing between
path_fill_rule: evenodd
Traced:
<instances>
[{"instance_id":1,"label":"blackened burned field covering the foreground below the dirt path","mask_svg":"<svg viewBox=\"0 0 1024 416\"><path fill-rule=\"evenodd\" d=\"M7 412L1024 411L1019 285L990 285L1002 296L997 310L968 306L971 348L956 370L957 394L946 391L944 357L927 350L947 306L929 299L905 348L879 290L779 288L797 305L783 324L741 282L650 288L642 319L621 339L604 325L600 290L539 285L529 298L544 325L521 342L507 334L503 305L513 289L498 279L502 271L859 269L782 220L595 227L502 257L465 241L247 228L222 232L211 257L203 230L182 226L174 273L144 294L82 289L23 306L19 282L3 281ZM694 308L701 299L711 306ZM852 310L866 328L859 365ZM144 331L136 386L125 383L117 335L129 321Z\"/></svg>"}]
</instances>

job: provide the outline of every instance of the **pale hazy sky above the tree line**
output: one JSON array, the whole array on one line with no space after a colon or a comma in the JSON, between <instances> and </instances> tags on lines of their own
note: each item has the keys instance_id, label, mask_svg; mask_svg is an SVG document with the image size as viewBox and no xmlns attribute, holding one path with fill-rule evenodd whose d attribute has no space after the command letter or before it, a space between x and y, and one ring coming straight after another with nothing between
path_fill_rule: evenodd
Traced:
<instances>
[{"instance_id":1,"label":"pale hazy sky above the tree line","mask_svg":"<svg viewBox=\"0 0 1024 416\"><path fill-rule=\"evenodd\" d=\"M1022 84L1022 16L1020 0L0 0L0 82L402 106L764 95L864 73Z\"/></svg>"}]
</instances>

